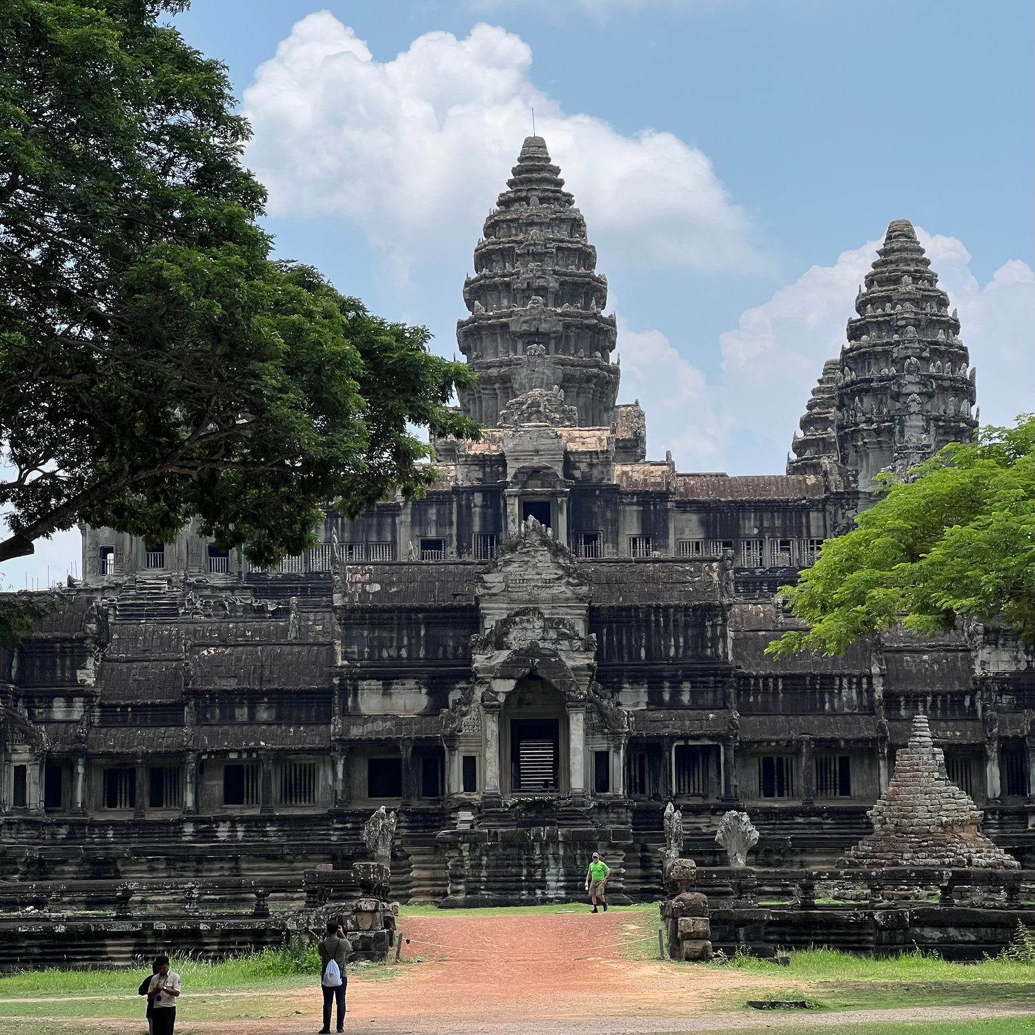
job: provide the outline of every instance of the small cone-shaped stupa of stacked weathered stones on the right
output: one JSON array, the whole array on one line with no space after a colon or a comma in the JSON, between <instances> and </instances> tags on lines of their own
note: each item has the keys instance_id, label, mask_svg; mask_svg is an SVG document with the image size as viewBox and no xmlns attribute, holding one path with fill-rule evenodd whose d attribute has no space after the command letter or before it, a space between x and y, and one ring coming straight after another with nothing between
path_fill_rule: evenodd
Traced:
<instances>
[{"instance_id":1,"label":"small cone-shaped stupa of stacked weathered stones on the right","mask_svg":"<svg viewBox=\"0 0 1035 1035\"><path fill-rule=\"evenodd\" d=\"M866 814L874 832L849 849L845 866L977 866L1015 869L1021 863L978 830L982 814L945 771L926 715L913 718L909 744L895 757L895 774Z\"/></svg>"}]
</instances>

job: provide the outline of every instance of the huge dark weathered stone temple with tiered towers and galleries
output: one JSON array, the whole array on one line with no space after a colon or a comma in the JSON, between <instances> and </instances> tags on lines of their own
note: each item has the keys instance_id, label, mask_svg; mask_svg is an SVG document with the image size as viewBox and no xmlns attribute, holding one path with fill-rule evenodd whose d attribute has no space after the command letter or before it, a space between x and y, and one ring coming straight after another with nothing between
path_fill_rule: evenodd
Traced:
<instances>
[{"instance_id":1,"label":"huge dark weathered stone temple with tiered towers and galleries","mask_svg":"<svg viewBox=\"0 0 1035 1035\"><path fill-rule=\"evenodd\" d=\"M84 582L0 670L0 877L346 868L400 809L393 892L453 903L659 884L662 811L720 861L830 865L868 834L913 716L984 832L1035 865L1035 667L999 627L901 631L839 658L763 651L774 594L904 472L976 426L959 322L888 227L785 474L647 460L618 405L608 284L541 138L485 220L457 341L478 442L436 443L426 499L328 510L255 570L187 528L84 530ZM850 300L846 300L848 304ZM846 304L846 307L847 307Z\"/></svg>"}]
</instances>

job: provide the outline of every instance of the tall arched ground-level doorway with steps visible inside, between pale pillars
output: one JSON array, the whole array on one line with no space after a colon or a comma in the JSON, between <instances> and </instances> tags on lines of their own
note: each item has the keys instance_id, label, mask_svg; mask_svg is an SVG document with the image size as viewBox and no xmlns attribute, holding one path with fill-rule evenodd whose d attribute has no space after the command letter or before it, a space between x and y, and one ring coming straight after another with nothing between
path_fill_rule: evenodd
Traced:
<instances>
[{"instance_id":1,"label":"tall arched ground-level doorway with steps visible inside, between pale pillars","mask_svg":"<svg viewBox=\"0 0 1035 1035\"><path fill-rule=\"evenodd\" d=\"M506 790L522 795L562 792L568 745L560 691L540 676L525 676L507 694L504 716Z\"/></svg>"}]
</instances>

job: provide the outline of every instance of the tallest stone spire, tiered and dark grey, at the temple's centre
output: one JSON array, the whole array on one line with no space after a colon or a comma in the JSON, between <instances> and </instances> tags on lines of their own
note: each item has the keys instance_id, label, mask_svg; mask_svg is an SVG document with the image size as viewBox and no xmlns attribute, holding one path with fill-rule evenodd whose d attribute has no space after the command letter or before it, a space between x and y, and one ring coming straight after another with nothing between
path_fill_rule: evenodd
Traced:
<instances>
[{"instance_id":1,"label":"tallest stone spire, tiered and dark grey, at the temple's centre","mask_svg":"<svg viewBox=\"0 0 1035 1035\"><path fill-rule=\"evenodd\" d=\"M474 271L464 284L471 315L456 324L479 376L461 397L464 412L490 427L611 424L619 369L610 359L615 318L602 312L608 280L541 137L525 140L485 219Z\"/></svg>"}]
</instances>

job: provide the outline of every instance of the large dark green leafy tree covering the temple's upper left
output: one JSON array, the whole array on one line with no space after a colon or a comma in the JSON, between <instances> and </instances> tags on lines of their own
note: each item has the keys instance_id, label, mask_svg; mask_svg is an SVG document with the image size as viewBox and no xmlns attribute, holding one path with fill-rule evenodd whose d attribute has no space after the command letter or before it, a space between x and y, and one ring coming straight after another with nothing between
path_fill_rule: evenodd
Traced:
<instances>
[{"instance_id":1,"label":"large dark green leafy tree covering the temple's upper left","mask_svg":"<svg viewBox=\"0 0 1035 1035\"><path fill-rule=\"evenodd\" d=\"M472 375L270 258L224 67L185 0L0 4L0 561L190 519L268 564L434 473Z\"/></svg>"}]
</instances>

